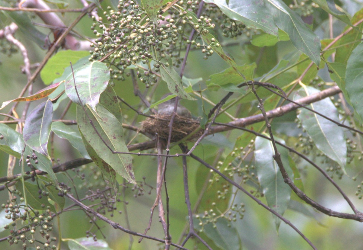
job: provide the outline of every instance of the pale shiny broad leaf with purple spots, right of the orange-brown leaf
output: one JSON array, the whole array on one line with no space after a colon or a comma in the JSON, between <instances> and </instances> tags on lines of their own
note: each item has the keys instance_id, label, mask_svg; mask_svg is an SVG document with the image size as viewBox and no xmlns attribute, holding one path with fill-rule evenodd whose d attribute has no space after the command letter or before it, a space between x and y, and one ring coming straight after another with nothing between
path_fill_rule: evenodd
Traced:
<instances>
[{"instance_id":1,"label":"pale shiny broad leaf with purple spots, right of the orange-brown leaf","mask_svg":"<svg viewBox=\"0 0 363 250\"><path fill-rule=\"evenodd\" d=\"M99 101L99 96L106 89L110 80L110 71L106 64L101 62L90 62L84 66L74 69L74 78L76 79L76 89L74 88L74 80L72 73L65 79L66 94L74 103L86 105L88 104L94 111Z\"/></svg>"}]
</instances>

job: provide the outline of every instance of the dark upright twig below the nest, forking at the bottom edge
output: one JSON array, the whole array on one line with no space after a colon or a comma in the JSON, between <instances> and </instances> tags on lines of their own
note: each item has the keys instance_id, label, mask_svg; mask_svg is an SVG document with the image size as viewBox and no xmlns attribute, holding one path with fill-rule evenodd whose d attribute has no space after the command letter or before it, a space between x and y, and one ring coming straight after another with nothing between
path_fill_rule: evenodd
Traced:
<instances>
[{"instance_id":1,"label":"dark upright twig below the nest, forking at the bottom edge","mask_svg":"<svg viewBox=\"0 0 363 250\"><path fill-rule=\"evenodd\" d=\"M185 146L179 145L180 149L183 152L186 152ZM184 183L184 197L185 197L185 204L187 204L188 209L188 220L189 220L189 232L187 236L185 237L184 241L181 243L181 246L184 246L185 243L187 243L188 239L192 236L199 239L204 246L206 246L209 250L212 250L212 248L208 245L207 242L205 242L194 230L194 223L193 223L193 212L192 212L192 206L190 203L190 197L189 197L189 186L188 186L188 172L187 172L187 157L183 156L183 183Z\"/></svg>"}]
</instances>

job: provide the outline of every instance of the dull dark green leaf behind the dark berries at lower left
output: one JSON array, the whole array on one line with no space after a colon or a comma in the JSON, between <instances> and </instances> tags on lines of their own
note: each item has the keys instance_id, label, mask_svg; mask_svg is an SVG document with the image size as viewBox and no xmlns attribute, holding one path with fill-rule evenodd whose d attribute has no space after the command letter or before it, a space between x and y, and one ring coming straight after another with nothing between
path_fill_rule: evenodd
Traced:
<instances>
[{"instance_id":1,"label":"dull dark green leaf behind the dark berries at lower left","mask_svg":"<svg viewBox=\"0 0 363 250\"><path fill-rule=\"evenodd\" d=\"M23 193L23 183L21 181L17 182L15 186L17 190ZM42 205L45 205L45 207L49 206L52 212L56 212L56 209L52 204L49 203L46 196L41 196L41 198L39 199L39 188L37 185L31 184L29 182L24 182L24 189L25 194L23 193L23 197L26 196L26 202L30 205L30 207L37 210L43 210L44 207L42 207Z\"/></svg>"}]
</instances>

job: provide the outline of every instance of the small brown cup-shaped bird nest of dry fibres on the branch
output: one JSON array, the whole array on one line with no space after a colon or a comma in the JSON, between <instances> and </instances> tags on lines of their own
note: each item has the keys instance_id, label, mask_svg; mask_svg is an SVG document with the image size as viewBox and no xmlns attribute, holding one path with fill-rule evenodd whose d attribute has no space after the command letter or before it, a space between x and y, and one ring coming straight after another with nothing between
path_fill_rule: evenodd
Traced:
<instances>
[{"instance_id":1,"label":"small brown cup-shaped bird nest of dry fibres on the branch","mask_svg":"<svg viewBox=\"0 0 363 250\"><path fill-rule=\"evenodd\" d=\"M153 118L147 118L141 122L142 130L152 135L158 135L159 138L167 140L169 136L169 123L171 115L156 114ZM197 130L200 127L199 121L191 118L175 115L171 142L180 141L181 139L191 135L187 138L188 141L201 136L203 130Z\"/></svg>"}]
</instances>

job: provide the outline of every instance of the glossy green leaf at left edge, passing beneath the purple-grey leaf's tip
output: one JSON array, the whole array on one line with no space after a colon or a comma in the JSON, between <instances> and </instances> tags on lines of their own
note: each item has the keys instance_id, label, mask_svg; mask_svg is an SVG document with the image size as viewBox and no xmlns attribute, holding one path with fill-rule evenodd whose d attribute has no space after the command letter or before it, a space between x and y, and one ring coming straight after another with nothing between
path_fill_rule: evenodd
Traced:
<instances>
[{"instance_id":1,"label":"glossy green leaf at left edge, passing beneath the purple-grey leaf's tip","mask_svg":"<svg viewBox=\"0 0 363 250\"><path fill-rule=\"evenodd\" d=\"M0 150L20 158L25 148L24 157L27 155L32 155L33 151L30 149L30 147L25 146L23 136L14 129L5 124L0 124L0 135L4 137L3 139L0 139ZM58 185L56 174L54 174L52 169L52 162L42 154L38 153L37 157L37 164L32 158L30 158L30 163L36 169L47 172L50 179L52 179L53 182Z\"/></svg>"}]
</instances>

